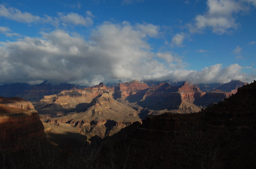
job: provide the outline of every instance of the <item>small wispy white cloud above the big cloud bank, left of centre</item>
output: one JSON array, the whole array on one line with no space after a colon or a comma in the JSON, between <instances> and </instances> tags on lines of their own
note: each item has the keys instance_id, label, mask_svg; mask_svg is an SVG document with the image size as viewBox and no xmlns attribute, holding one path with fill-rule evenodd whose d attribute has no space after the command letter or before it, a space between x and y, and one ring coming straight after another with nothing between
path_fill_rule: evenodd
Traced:
<instances>
[{"instance_id":1,"label":"small wispy white cloud above the big cloud bank, left of centre","mask_svg":"<svg viewBox=\"0 0 256 169\"><path fill-rule=\"evenodd\" d=\"M73 24L73 25L84 25L90 26L93 24L93 20L90 17L84 18L83 16L79 15L78 13L70 12L67 15L63 13L58 13L60 20L64 23Z\"/></svg>"}]
</instances>

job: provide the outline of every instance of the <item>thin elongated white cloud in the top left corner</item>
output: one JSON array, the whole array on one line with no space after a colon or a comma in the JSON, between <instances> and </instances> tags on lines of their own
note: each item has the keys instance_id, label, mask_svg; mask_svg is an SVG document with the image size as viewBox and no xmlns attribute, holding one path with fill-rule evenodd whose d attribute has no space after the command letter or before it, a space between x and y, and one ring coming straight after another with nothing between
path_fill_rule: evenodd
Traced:
<instances>
[{"instance_id":1,"label":"thin elongated white cloud in the top left corner","mask_svg":"<svg viewBox=\"0 0 256 169\"><path fill-rule=\"evenodd\" d=\"M12 7L7 9L4 5L0 5L0 16L24 23L32 23L40 20L39 16L32 15L28 12L21 12L20 10Z\"/></svg>"}]
</instances>

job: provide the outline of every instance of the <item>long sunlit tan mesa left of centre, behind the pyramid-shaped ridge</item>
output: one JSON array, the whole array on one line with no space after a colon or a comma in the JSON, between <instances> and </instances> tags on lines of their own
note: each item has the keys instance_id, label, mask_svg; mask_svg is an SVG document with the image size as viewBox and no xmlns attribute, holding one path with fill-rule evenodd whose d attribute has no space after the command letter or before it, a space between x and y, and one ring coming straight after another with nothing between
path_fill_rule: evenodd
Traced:
<instances>
[{"instance_id":1,"label":"long sunlit tan mesa left of centre, behind the pyramid-shaped ridge","mask_svg":"<svg viewBox=\"0 0 256 169\"><path fill-rule=\"evenodd\" d=\"M44 96L35 104L36 110L44 115L63 115L68 112L82 111L91 106L92 99L103 92L113 90L103 83L84 89L65 90L57 95Z\"/></svg>"}]
</instances>

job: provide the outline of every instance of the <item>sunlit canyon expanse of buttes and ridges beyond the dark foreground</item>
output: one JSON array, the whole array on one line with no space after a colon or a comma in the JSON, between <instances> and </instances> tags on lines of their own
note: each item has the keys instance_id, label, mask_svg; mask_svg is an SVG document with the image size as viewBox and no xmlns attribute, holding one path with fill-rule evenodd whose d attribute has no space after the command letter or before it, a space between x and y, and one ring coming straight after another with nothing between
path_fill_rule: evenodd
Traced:
<instances>
[{"instance_id":1,"label":"sunlit canyon expanse of buttes and ridges beyond the dark foreground","mask_svg":"<svg viewBox=\"0 0 256 169\"><path fill-rule=\"evenodd\" d=\"M138 80L120 83L115 87L100 83L93 87L44 96L34 105L49 132L52 131L49 126L56 128L65 124L86 135L89 141L93 136L104 138L113 135L147 116L165 112L199 112L212 103L230 97L238 86L246 84L240 81L230 83L232 85L226 85L230 91L226 92L218 88L203 92L190 82L176 86L162 82L151 87Z\"/></svg>"}]
</instances>

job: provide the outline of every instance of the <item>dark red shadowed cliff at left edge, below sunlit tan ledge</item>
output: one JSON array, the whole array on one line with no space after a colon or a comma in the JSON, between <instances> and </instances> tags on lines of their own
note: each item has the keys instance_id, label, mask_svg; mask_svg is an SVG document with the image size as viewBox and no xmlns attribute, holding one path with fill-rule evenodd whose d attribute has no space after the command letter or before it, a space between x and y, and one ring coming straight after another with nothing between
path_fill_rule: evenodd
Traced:
<instances>
[{"instance_id":1,"label":"dark red shadowed cliff at left edge, below sunlit tan ledge","mask_svg":"<svg viewBox=\"0 0 256 169\"><path fill-rule=\"evenodd\" d=\"M36 110L0 104L0 144L4 151L19 151L29 143L45 140L44 127Z\"/></svg>"}]
</instances>

